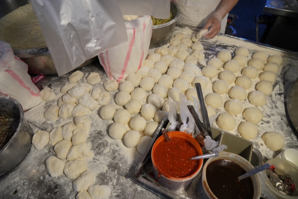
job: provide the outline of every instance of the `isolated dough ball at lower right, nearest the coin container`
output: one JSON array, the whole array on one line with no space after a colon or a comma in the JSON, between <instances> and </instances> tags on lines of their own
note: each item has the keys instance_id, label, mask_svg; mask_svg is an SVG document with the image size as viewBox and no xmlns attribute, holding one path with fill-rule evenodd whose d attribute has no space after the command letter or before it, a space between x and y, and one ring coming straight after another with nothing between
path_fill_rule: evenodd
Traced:
<instances>
[{"instance_id":1,"label":"isolated dough ball at lower right, nearest the coin container","mask_svg":"<svg viewBox=\"0 0 298 199\"><path fill-rule=\"evenodd\" d=\"M285 138L277 132L268 131L262 135L262 139L272 151L280 151L285 145Z\"/></svg>"}]
</instances>

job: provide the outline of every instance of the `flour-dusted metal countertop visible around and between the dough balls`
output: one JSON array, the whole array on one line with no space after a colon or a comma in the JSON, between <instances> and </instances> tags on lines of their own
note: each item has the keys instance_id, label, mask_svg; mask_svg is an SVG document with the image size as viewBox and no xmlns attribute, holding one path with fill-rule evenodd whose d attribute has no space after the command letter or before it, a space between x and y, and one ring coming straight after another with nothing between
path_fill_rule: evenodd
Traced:
<instances>
[{"instance_id":1,"label":"flour-dusted metal countertop visible around and between the dough balls","mask_svg":"<svg viewBox=\"0 0 298 199\"><path fill-rule=\"evenodd\" d=\"M193 34L192 30L188 28L178 27L176 27L175 33L184 33L187 36ZM201 43L204 46L203 53L205 54L205 58L197 64L200 69L206 65L210 58L215 57L219 51L229 50L233 57L235 49L240 46L245 46L249 49L248 60L251 59L252 54L257 50L264 50L268 55L280 54L284 58L284 63L281 66L277 80L273 84L273 92L271 95L266 96L267 104L259 107L264 117L263 120L257 124L259 132L257 137L252 141L254 147L259 149L263 154L264 161L278 154L278 151L273 152L268 149L261 139L261 135L267 131L276 131L285 137L284 149L298 149L297 131L291 124L285 104L287 91L298 76L297 54L226 35L216 36L214 39L202 39ZM154 50L155 49L150 49L149 53L152 53ZM98 61L83 68L79 68L78 70L84 73L81 79L82 82L86 82L86 77L90 72L99 73L101 82L96 86L104 90L103 83L108 80L108 77ZM223 70L222 68L220 71ZM52 88L56 94L56 99L49 102L44 101L38 106L25 111L24 116L35 133L38 130L50 132L52 128L62 126L72 121L71 117L65 120L58 118L55 121L49 121L44 118L46 108L57 103L58 98L62 96L60 88L68 82L70 74L72 74L72 72L60 77L57 75L48 75L40 82L36 83L40 89L46 86ZM237 77L240 76L241 73L238 72L235 75ZM213 92L212 82L216 80L218 80L217 77L209 79L207 88L203 90L204 96ZM253 85L258 81L258 78L254 79ZM229 87L231 88L233 85L235 84L233 83L229 85ZM255 88L252 86L252 88L247 90L247 93L254 90ZM123 108L115 103L114 97L117 92L118 91L109 91L111 94L109 104L114 105L116 109ZM147 95L151 93L151 91L147 91ZM228 94L221 96L224 102L229 99ZM251 106L247 99L243 102L243 109ZM94 184L110 186L112 190L110 198L159 198L154 193L149 192L129 179L133 176L136 165L142 155L139 154L136 148L127 148L123 140L114 140L109 136L108 128L113 121L102 120L100 118L100 107L101 106L98 106L86 115L92 122L86 142L89 144L91 151L94 152L94 156L87 158L86 161L88 169L95 175ZM216 112L225 112L224 105L216 109ZM239 135L237 127L245 120L242 114L238 114L234 116L234 118L236 128L230 132ZM218 127L216 121L211 125ZM27 156L15 169L0 177L0 198L75 198L76 192L72 189L71 184L73 180L67 178L64 174L53 178L46 172L45 160L50 155L55 155L53 146L48 144L41 150L36 150L35 147L32 146ZM192 198L196 197L193 196Z\"/></svg>"}]
</instances>

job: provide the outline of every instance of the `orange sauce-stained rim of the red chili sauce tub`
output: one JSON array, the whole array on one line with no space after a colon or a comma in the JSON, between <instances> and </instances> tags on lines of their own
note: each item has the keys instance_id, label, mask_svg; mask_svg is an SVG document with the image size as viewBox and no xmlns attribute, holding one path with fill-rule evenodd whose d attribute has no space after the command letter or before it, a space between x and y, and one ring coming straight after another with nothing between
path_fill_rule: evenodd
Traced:
<instances>
[{"instance_id":1,"label":"orange sauce-stained rim of the red chili sauce tub","mask_svg":"<svg viewBox=\"0 0 298 199\"><path fill-rule=\"evenodd\" d=\"M180 132L180 131L170 131L170 132L168 132L168 135L170 138L171 137L181 137L181 138L187 139L188 141L190 141L190 143L193 144L193 146L195 146L199 155L203 154L201 146L199 145L197 140L195 140L195 138L193 138L191 135L184 133L184 132ZM163 140L164 140L164 136L160 136L159 138L157 138L157 140L153 144L153 147L151 150L151 160L152 160L152 164L155 168L156 168L156 166L155 166L156 164L155 164L155 159L154 159L154 150L155 150L156 146ZM187 177L166 177L162 174L161 175L169 180L172 180L172 181L177 181L177 182L186 181L186 180L189 180L189 179L192 179L193 177L195 177L201 171L202 166L203 166L203 159L200 159L198 169L193 174L191 174ZM158 171L157 168L156 168L156 170Z\"/></svg>"}]
</instances>

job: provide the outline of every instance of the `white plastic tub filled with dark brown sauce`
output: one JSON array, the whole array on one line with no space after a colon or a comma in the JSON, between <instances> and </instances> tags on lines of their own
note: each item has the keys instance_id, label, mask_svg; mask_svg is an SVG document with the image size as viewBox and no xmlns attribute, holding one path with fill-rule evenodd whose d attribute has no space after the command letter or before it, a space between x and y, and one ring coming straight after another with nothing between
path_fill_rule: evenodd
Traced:
<instances>
[{"instance_id":1,"label":"white plastic tub filled with dark brown sauce","mask_svg":"<svg viewBox=\"0 0 298 199\"><path fill-rule=\"evenodd\" d=\"M209 158L202 169L197 194L210 199L257 199L261 195L258 174L238 180L238 177L254 169L249 161L233 153L220 153Z\"/></svg>"}]
</instances>

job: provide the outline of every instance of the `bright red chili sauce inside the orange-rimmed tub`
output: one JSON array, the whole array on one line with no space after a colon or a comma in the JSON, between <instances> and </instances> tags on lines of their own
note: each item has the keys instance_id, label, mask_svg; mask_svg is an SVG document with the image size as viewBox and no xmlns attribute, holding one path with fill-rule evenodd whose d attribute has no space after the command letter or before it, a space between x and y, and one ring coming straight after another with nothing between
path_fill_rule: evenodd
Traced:
<instances>
[{"instance_id":1,"label":"bright red chili sauce inside the orange-rimmed tub","mask_svg":"<svg viewBox=\"0 0 298 199\"><path fill-rule=\"evenodd\" d=\"M195 146L181 137L170 137L170 141L162 140L155 148L154 160L159 175L165 177L187 177L195 173L199 160L188 160L198 156Z\"/></svg>"}]
</instances>

